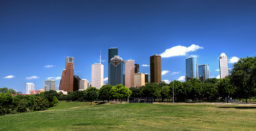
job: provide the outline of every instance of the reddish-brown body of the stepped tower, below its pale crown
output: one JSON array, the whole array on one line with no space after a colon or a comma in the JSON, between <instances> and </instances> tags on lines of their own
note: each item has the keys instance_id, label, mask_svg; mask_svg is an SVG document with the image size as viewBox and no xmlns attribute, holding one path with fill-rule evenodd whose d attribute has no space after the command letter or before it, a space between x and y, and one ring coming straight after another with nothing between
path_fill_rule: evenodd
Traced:
<instances>
[{"instance_id":1,"label":"reddish-brown body of the stepped tower, below its pale crown","mask_svg":"<svg viewBox=\"0 0 256 131\"><path fill-rule=\"evenodd\" d=\"M66 69L63 69L61 80L59 82L59 90L63 91L74 91L73 90L74 83L74 68L73 62L68 62Z\"/></svg>"}]
</instances>

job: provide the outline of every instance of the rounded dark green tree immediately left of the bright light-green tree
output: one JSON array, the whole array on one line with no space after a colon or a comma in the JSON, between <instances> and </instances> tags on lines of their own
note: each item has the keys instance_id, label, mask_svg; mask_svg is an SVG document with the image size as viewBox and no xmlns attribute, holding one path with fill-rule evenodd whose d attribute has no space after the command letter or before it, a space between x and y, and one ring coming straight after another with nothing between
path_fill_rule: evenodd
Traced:
<instances>
[{"instance_id":1,"label":"rounded dark green tree immediately left of the bright light-green tree","mask_svg":"<svg viewBox=\"0 0 256 131\"><path fill-rule=\"evenodd\" d=\"M100 99L104 100L108 100L108 102L112 99L112 93L111 93L111 89L113 86L111 85L103 85L100 89L99 89L99 97Z\"/></svg>"}]
</instances>

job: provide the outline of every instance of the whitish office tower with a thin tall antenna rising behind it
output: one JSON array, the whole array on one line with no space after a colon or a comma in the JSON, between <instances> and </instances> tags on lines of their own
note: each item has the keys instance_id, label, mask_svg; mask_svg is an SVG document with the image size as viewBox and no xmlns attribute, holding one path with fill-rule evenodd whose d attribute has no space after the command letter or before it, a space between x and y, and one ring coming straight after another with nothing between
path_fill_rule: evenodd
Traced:
<instances>
[{"instance_id":1,"label":"whitish office tower with a thin tall antenna rising behind it","mask_svg":"<svg viewBox=\"0 0 256 131\"><path fill-rule=\"evenodd\" d=\"M92 65L92 87L100 89L103 86L104 65L95 63Z\"/></svg>"}]
</instances>

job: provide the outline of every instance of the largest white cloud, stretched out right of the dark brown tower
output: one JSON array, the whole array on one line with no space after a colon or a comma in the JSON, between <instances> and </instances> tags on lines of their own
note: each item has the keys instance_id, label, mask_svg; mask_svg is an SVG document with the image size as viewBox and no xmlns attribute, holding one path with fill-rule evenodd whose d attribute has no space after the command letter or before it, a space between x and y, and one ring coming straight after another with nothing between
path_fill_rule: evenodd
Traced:
<instances>
[{"instance_id":1,"label":"largest white cloud, stretched out right of the dark brown tower","mask_svg":"<svg viewBox=\"0 0 256 131\"><path fill-rule=\"evenodd\" d=\"M204 47L201 47L199 45L192 44L189 47L186 46L174 46L172 48L166 49L163 53L160 54L162 58L167 57L176 57L176 56L186 56L189 52L196 51L198 49L203 49Z\"/></svg>"}]
</instances>

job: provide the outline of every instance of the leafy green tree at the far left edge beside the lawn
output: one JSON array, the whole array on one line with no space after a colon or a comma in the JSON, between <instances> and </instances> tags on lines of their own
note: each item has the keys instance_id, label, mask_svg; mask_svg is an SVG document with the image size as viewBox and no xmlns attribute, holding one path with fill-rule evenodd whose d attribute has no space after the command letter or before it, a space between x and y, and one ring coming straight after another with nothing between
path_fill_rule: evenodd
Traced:
<instances>
[{"instance_id":1,"label":"leafy green tree at the far left edge beside the lawn","mask_svg":"<svg viewBox=\"0 0 256 131\"><path fill-rule=\"evenodd\" d=\"M10 93L0 93L0 107L4 108L5 115L13 102L13 96Z\"/></svg>"}]
</instances>

